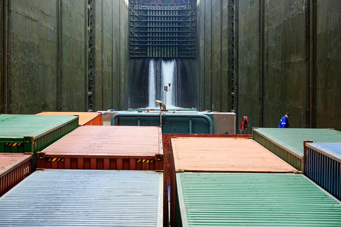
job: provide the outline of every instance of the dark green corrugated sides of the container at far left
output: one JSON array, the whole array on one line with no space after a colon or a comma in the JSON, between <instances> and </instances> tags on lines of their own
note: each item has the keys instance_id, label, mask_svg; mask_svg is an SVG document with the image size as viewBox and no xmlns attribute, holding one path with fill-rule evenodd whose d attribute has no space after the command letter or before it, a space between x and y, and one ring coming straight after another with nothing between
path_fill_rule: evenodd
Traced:
<instances>
[{"instance_id":1,"label":"dark green corrugated sides of the container at far left","mask_svg":"<svg viewBox=\"0 0 341 227\"><path fill-rule=\"evenodd\" d=\"M33 153L33 170L36 168L36 153L42 151L58 139L72 132L78 127L78 117L72 121L54 128L53 130L44 132L37 138L33 136L25 136L23 138L0 138L4 142L0 142L0 152L6 153ZM1 147L2 146L2 147Z\"/></svg>"}]
</instances>

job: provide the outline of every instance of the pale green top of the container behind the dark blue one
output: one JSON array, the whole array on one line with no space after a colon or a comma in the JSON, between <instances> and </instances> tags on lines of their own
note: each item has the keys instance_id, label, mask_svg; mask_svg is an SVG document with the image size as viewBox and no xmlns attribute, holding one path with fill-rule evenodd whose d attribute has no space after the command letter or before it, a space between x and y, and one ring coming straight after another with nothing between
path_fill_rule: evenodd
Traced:
<instances>
[{"instance_id":1,"label":"pale green top of the container behind the dark blue one","mask_svg":"<svg viewBox=\"0 0 341 227\"><path fill-rule=\"evenodd\" d=\"M286 149L303 156L303 141L340 142L341 132L328 128L253 128Z\"/></svg>"}]
</instances>

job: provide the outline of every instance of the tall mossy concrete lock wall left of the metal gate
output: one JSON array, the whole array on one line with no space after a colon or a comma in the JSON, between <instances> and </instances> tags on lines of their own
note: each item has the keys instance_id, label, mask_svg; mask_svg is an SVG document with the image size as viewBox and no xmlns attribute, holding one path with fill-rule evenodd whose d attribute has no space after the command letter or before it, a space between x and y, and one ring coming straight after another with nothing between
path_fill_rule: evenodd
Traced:
<instances>
[{"instance_id":1,"label":"tall mossy concrete lock wall left of the metal gate","mask_svg":"<svg viewBox=\"0 0 341 227\"><path fill-rule=\"evenodd\" d=\"M88 111L87 4L0 1L1 113ZM92 109L124 109L128 0L91 7Z\"/></svg>"}]
</instances>

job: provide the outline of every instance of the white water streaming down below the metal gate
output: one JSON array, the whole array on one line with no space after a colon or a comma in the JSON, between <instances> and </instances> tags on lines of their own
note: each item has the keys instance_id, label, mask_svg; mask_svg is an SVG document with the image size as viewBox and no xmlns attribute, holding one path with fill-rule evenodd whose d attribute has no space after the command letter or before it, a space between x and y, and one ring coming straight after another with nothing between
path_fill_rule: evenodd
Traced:
<instances>
[{"instance_id":1,"label":"white water streaming down below the metal gate","mask_svg":"<svg viewBox=\"0 0 341 227\"><path fill-rule=\"evenodd\" d=\"M177 97L178 88L178 75L176 59L154 59L149 61L149 94L148 94L148 107L159 108L155 100L161 100L166 103L167 109L178 109ZM170 84L170 87L169 85ZM168 87L167 102L165 102L164 86Z\"/></svg>"}]
</instances>

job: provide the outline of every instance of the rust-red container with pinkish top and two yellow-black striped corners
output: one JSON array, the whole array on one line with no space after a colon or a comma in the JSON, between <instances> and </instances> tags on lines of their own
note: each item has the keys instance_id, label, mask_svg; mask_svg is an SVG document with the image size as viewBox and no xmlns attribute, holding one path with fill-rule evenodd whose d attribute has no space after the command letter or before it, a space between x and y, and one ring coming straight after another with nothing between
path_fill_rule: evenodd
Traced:
<instances>
[{"instance_id":1,"label":"rust-red container with pinkish top and two yellow-black striped corners","mask_svg":"<svg viewBox=\"0 0 341 227\"><path fill-rule=\"evenodd\" d=\"M38 152L38 168L162 170L161 128L80 126Z\"/></svg>"}]
</instances>

